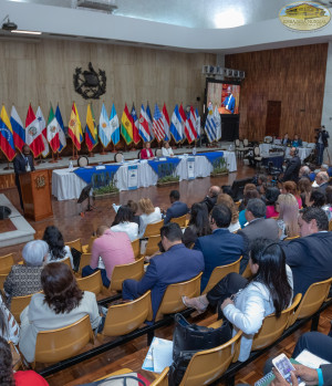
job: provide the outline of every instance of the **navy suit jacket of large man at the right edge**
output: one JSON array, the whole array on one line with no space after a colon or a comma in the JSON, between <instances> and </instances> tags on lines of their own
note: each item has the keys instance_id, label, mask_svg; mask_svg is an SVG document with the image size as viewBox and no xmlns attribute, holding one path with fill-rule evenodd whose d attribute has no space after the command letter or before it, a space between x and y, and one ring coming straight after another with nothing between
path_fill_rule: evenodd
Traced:
<instances>
[{"instance_id":1,"label":"navy suit jacket of large man at the right edge","mask_svg":"<svg viewBox=\"0 0 332 386\"><path fill-rule=\"evenodd\" d=\"M319 232L281 244L293 272L294 295L332 277L332 232Z\"/></svg>"}]
</instances>

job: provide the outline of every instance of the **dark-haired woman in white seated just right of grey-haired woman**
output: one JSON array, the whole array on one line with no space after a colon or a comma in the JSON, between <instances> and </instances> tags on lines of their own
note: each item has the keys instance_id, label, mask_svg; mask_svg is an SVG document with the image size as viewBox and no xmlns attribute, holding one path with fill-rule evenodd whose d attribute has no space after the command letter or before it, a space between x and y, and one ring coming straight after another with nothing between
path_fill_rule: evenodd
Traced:
<instances>
[{"instance_id":1,"label":"dark-haired woman in white seated just right of grey-haired woman","mask_svg":"<svg viewBox=\"0 0 332 386\"><path fill-rule=\"evenodd\" d=\"M63 261L66 258L70 258L72 268L74 268L71 249L68 246L64 246L63 236L56 227L46 227L43 240L49 244L49 254L45 259L46 263Z\"/></svg>"}]
</instances>

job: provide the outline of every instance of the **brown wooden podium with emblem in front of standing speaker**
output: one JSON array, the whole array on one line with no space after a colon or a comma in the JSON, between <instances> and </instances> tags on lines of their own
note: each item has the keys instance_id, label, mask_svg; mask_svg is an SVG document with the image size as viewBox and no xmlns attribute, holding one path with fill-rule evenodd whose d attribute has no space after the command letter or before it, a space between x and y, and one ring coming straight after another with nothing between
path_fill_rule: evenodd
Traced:
<instances>
[{"instance_id":1,"label":"brown wooden podium with emblem in front of standing speaker","mask_svg":"<svg viewBox=\"0 0 332 386\"><path fill-rule=\"evenodd\" d=\"M34 221L52 217L51 188L48 170L20 175L24 217Z\"/></svg>"}]
</instances>

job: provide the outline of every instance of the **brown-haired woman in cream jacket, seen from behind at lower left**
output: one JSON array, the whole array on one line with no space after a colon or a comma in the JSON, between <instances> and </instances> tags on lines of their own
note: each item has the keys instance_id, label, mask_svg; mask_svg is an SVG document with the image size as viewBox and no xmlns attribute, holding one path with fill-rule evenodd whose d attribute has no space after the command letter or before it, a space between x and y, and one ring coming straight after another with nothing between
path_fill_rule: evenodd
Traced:
<instances>
[{"instance_id":1,"label":"brown-haired woman in cream jacket, seen from behind at lower left","mask_svg":"<svg viewBox=\"0 0 332 386\"><path fill-rule=\"evenodd\" d=\"M39 331L65 327L84 315L92 328L97 328L101 316L95 294L81 291L72 270L64 263L50 263L41 273L43 293L32 295L21 313L20 351L29 363L34 359Z\"/></svg>"}]
</instances>

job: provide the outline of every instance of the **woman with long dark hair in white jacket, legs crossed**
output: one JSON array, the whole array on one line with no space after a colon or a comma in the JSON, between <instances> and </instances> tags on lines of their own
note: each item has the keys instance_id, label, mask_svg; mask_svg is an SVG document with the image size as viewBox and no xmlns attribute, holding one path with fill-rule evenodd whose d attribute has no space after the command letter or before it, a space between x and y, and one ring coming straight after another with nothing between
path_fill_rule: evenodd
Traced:
<instances>
[{"instance_id":1,"label":"woman with long dark hair in white jacket, legs crossed","mask_svg":"<svg viewBox=\"0 0 332 386\"><path fill-rule=\"evenodd\" d=\"M239 361L245 362L250 354L255 334L263 319L276 313L279 317L292 300L292 273L286 265L281 247L267 239L258 239L251 248L250 281L238 273L229 273L206 295L194 299L183 298L187 306L204 312L207 306L217 306L219 316L234 325L234 334L243 332Z\"/></svg>"}]
</instances>

